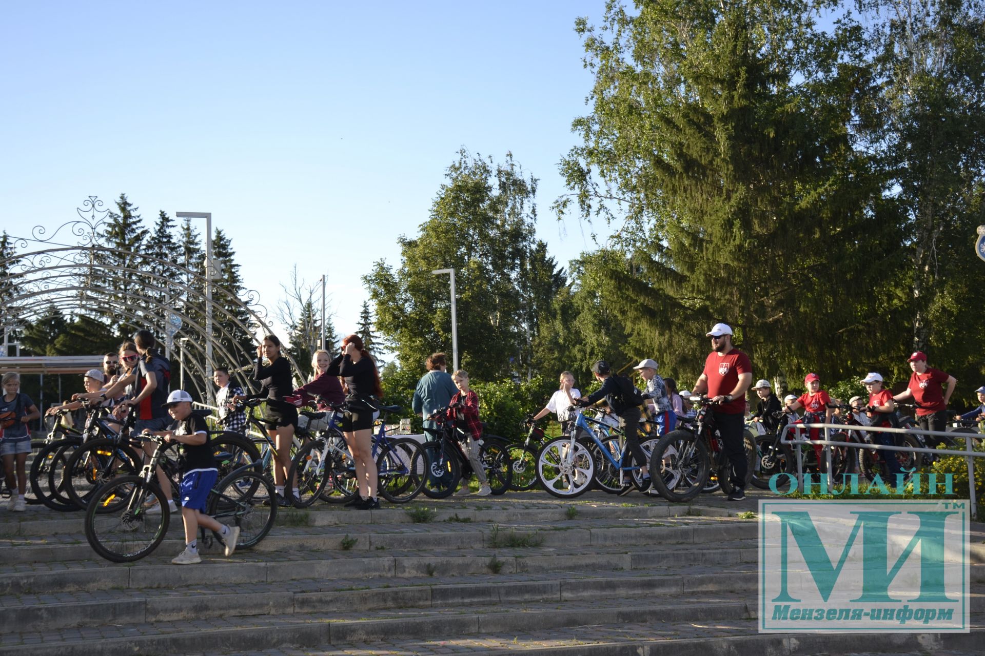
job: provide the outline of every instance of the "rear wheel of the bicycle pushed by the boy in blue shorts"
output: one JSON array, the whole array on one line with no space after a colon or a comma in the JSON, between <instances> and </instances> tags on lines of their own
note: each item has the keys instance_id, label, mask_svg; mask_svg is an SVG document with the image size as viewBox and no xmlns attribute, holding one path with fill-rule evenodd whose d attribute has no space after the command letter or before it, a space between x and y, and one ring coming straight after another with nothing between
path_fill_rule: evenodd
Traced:
<instances>
[{"instance_id":1,"label":"rear wheel of the bicycle pushed by the boy in blue shorts","mask_svg":"<svg viewBox=\"0 0 985 656\"><path fill-rule=\"evenodd\" d=\"M264 504L273 498L273 482L247 469L216 484L209 494L208 513L221 524L238 526L236 549L249 549L267 536L277 520L277 504ZM213 531L213 534L222 541L219 533Z\"/></svg>"}]
</instances>

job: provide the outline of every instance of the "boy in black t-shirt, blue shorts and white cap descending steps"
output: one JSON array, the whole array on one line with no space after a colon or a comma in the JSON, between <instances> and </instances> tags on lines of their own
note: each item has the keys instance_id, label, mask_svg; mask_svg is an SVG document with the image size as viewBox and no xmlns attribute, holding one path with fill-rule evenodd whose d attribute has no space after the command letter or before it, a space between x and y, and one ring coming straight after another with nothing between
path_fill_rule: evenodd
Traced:
<instances>
[{"instance_id":1,"label":"boy in black t-shirt, blue shorts and white cap descending steps","mask_svg":"<svg viewBox=\"0 0 985 656\"><path fill-rule=\"evenodd\" d=\"M187 391L175 389L164 403L168 414L174 419L170 429L154 435L167 438L168 442L181 445L181 519L185 525L185 548L174 558L174 565L195 565L202 562L198 555L198 526L222 535L226 545L226 555L231 556L239 538L238 526L226 526L205 514L209 503L209 492L216 485L219 470L212 457L209 445L208 427L205 419L191 412L191 395Z\"/></svg>"}]
</instances>

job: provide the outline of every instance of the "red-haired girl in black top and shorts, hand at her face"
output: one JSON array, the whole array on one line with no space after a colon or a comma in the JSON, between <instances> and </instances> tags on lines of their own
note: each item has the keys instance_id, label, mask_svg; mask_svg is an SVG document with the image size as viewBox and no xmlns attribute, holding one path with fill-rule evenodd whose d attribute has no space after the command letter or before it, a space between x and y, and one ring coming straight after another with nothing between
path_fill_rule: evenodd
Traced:
<instances>
[{"instance_id":1,"label":"red-haired girl in black top and shorts, hand at her face","mask_svg":"<svg viewBox=\"0 0 985 656\"><path fill-rule=\"evenodd\" d=\"M342 432L356 463L360 496L350 506L360 509L379 507L376 499L376 463L372 459L372 422L378 398L383 395L376 364L369 356L359 335L342 340L342 355L332 361L346 388L346 412ZM331 367L329 368L331 371Z\"/></svg>"}]
</instances>

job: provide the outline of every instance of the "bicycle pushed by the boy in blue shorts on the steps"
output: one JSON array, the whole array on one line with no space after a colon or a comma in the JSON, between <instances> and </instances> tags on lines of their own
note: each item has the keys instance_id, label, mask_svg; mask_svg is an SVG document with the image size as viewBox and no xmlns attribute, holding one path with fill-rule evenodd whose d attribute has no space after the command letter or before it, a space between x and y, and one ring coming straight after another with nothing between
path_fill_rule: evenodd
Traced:
<instances>
[{"instance_id":1,"label":"bicycle pushed by the boy in blue shorts on the steps","mask_svg":"<svg viewBox=\"0 0 985 656\"><path fill-rule=\"evenodd\" d=\"M155 472L159 465L167 466L164 452L176 443L153 436L145 439L157 447L140 474L121 476L103 485L86 508L86 540L100 557L113 563L145 558L167 534L170 510ZM220 523L231 520L240 530L236 549L249 549L266 537L277 519L277 505L264 504L273 498L273 483L250 462L232 470L209 492L206 514ZM161 511L149 512L154 506ZM199 530L202 547L222 541L215 531Z\"/></svg>"}]
</instances>

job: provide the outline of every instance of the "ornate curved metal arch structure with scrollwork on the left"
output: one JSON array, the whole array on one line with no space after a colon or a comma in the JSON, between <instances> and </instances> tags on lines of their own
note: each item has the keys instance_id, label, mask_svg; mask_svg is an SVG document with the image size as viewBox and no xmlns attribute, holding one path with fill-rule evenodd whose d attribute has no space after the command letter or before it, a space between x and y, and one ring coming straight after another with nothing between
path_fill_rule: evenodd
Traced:
<instances>
[{"instance_id":1,"label":"ornate curved metal arch structure with scrollwork on the left","mask_svg":"<svg viewBox=\"0 0 985 656\"><path fill-rule=\"evenodd\" d=\"M12 237L17 252L0 259L0 330L4 338L52 308L67 316L96 321L122 320L180 340L182 354L187 349L192 355L186 365L193 373L190 380L199 398L214 397L205 369L223 365L230 366L230 374L243 388L255 389L254 382L243 376L252 369L255 352L244 344L257 343L256 330L271 330L259 294L253 290L233 294L215 284L213 278L209 285L212 294L207 295L202 272L145 253L113 248L105 243L108 209L102 206L98 197L91 196L76 209L79 218L50 232L38 225L29 237ZM63 243L70 241L75 243ZM214 318L211 330L201 320L210 314L207 309ZM297 371L291 356L286 352L284 356Z\"/></svg>"}]
</instances>

